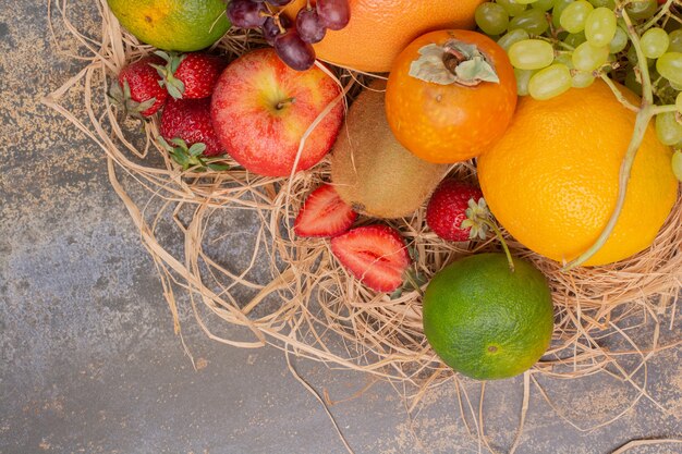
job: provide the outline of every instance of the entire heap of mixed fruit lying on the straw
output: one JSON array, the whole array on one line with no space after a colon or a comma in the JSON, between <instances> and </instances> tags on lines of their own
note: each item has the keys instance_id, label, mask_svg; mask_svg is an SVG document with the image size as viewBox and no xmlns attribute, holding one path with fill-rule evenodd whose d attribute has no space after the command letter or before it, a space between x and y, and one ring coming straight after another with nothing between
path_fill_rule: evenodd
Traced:
<instances>
[{"instance_id":1,"label":"entire heap of mixed fruit lying on the straw","mask_svg":"<svg viewBox=\"0 0 682 454\"><path fill-rule=\"evenodd\" d=\"M428 20L423 7L387 2L379 22L368 0L230 0L219 17L188 1L163 15L165 24L193 17L170 39L153 9L109 0L123 26L158 48L119 72L110 99L142 121L160 115L156 143L183 176L239 168L285 180L328 163L284 220L290 240L326 247L376 297L414 292L443 361L477 379L507 378L546 352L553 315L545 275L511 255L498 223L549 260L600 266L651 245L678 199L674 1L449 1L431 5ZM271 47L228 59L205 50L220 37L196 44L207 23L228 20ZM339 60L325 46L349 36L386 45L372 39L386 21L405 33L376 56L390 61L376 70L387 82L346 99L334 78L346 73L316 58L367 70L369 47L346 46ZM479 30L464 29L474 22ZM376 30L358 32L367 23ZM477 181L454 177L459 167L476 169ZM425 273L415 232L394 221L404 218L440 244L471 248L495 235L503 253Z\"/></svg>"}]
</instances>

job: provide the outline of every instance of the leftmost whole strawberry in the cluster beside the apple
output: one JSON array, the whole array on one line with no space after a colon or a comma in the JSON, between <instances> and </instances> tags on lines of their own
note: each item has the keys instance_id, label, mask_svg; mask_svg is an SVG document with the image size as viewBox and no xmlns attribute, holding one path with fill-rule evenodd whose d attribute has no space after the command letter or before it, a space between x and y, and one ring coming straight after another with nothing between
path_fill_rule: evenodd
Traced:
<instances>
[{"instance_id":1,"label":"leftmost whole strawberry in the cluster beside the apple","mask_svg":"<svg viewBox=\"0 0 682 454\"><path fill-rule=\"evenodd\" d=\"M129 64L119 73L121 94L127 95L125 94L125 83L127 83L130 98L123 95L120 96L121 99L117 99L117 101L124 106L129 113L150 116L166 102L168 93L159 85L161 76L153 66L153 64L159 63L163 63L163 59L160 57L145 57ZM119 96L114 95L114 97L118 98Z\"/></svg>"}]
</instances>

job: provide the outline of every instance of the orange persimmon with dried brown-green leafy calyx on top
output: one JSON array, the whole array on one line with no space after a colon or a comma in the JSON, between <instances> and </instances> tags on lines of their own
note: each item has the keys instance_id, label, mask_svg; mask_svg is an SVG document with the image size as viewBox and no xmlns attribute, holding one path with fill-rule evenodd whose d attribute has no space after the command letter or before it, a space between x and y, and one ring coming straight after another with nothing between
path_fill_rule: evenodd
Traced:
<instances>
[{"instance_id":1,"label":"orange persimmon with dried brown-green leafy calyx on top","mask_svg":"<svg viewBox=\"0 0 682 454\"><path fill-rule=\"evenodd\" d=\"M386 114L395 138L415 156L460 162L491 147L516 107L507 52L470 30L431 32L393 62Z\"/></svg>"}]
</instances>

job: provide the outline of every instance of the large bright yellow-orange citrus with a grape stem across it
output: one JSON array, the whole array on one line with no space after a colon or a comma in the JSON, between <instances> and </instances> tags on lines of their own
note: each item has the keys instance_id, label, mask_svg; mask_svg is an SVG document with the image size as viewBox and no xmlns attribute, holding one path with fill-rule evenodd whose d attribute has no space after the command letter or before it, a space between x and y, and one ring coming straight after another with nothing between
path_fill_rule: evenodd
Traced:
<instances>
[{"instance_id":1,"label":"large bright yellow-orange citrus with a grape stem across it","mask_svg":"<svg viewBox=\"0 0 682 454\"><path fill-rule=\"evenodd\" d=\"M619 88L638 106L636 95ZM546 101L520 98L512 124L478 159L490 210L529 249L557 261L576 258L616 207L634 123L635 113L601 81ZM678 194L671 156L649 124L616 229L585 265L619 261L654 242Z\"/></svg>"}]
</instances>

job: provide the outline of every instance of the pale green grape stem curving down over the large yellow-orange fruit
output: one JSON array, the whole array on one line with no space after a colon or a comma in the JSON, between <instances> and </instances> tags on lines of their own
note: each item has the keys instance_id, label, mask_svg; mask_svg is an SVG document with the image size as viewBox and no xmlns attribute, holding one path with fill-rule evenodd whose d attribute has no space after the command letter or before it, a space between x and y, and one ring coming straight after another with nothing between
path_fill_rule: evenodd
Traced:
<instances>
[{"instance_id":1,"label":"pale green grape stem curving down over the large yellow-orange fruit","mask_svg":"<svg viewBox=\"0 0 682 454\"><path fill-rule=\"evenodd\" d=\"M609 218L606 226L599 234L597 241L583 254L581 254L576 259L570 261L564 265L562 268L563 271L572 270L573 268L580 267L585 261L589 260L608 241L611 233L613 233L613 229L616 228L616 223L618 222L618 218L620 217L621 211L623 210L623 205L625 205L625 195L628 193L628 182L630 180L630 172L632 170L632 164L634 163L635 157L637 155L637 150L642 145L642 140L644 139L644 134L649 125L649 122L657 113L661 112L661 107L657 107L654 105L654 93L651 90L651 79L649 76L649 69L647 65L646 57L642 51L642 44L640 42L640 35L637 34L634 25L628 12L624 9L624 3L622 1L617 0L618 11L620 15L623 17L623 21L626 25L626 33L630 37L630 41L635 49L637 54L637 68L640 69L642 75L642 105L637 111L637 115L635 118L635 127L632 132L632 136L630 139L630 144L628 145L628 150L625 151L625 156L621 163L619 179L618 179L618 198L616 200L616 207L611 212L611 217ZM608 77L604 75L601 77L608 85L611 87L617 98L623 102L624 96L618 89L616 84L611 81L607 81ZM630 102L624 103L626 108L630 109L629 106L632 106ZM632 110L632 109L631 109Z\"/></svg>"}]
</instances>

